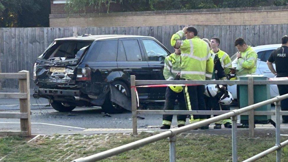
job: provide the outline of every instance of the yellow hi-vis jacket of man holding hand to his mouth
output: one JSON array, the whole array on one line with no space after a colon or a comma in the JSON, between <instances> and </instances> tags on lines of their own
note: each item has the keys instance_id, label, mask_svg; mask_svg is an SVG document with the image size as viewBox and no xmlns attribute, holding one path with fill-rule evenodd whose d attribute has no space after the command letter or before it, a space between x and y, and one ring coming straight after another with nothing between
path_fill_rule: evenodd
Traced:
<instances>
[{"instance_id":1,"label":"yellow hi-vis jacket of man holding hand to his mouth","mask_svg":"<svg viewBox=\"0 0 288 162\"><path fill-rule=\"evenodd\" d=\"M236 76L255 73L257 67L257 53L251 46L241 53L241 58L237 59Z\"/></svg>"}]
</instances>

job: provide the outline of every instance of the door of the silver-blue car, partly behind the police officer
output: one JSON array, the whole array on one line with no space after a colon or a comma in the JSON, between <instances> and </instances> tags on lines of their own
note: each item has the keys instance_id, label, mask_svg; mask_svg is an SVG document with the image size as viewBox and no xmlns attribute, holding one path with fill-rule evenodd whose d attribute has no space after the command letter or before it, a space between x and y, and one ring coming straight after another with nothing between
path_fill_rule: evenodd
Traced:
<instances>
[{"instance_id":1,"label":"door of the silver-blue car, partly behind the police officer","mask_svg":"<svg viewBox=\"0 0 288 162\"><path fill-rule=\"evenodd\" d=\"M267 60L269 58L269 56L271 55L271 53L274 50L264 50L264 51L259 51L258 54L258 59L257 59L257 71L260 74L263 74L264 76L268 77L268 78L274 78L275 75L269 70L268 66L267 66ZM275 63L273 63L274 69L275 69ZM273 96L277 96L279 94L278 92L278 88L277 85L275 84L271 84L270 85L270 95L271 97Z\"/></svg>"}]
</instances>

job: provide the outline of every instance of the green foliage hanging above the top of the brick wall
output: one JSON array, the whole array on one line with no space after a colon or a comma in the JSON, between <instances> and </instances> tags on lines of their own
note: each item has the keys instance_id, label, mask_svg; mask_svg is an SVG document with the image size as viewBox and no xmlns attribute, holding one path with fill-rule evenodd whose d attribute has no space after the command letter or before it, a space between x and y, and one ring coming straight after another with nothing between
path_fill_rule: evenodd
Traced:
<instances>
[{"instance_id":1,"label":"green foliage hanging above the top of the brick wall","mask_svg":"<svg viewBox=\"0 0 288 162\"><path fill-rule=\"evenodd\" d=\"M71 13L85 12L87 6L94 7L96 12L109 12L111 3L123 5L123 12L154 11L176 9L213 9L258 6L283 6L288 0L70 0L66 11ZM103 6L105 6L103 8ZM105 11L104 11L105 10Z\"/></svg>"}]
</instances>

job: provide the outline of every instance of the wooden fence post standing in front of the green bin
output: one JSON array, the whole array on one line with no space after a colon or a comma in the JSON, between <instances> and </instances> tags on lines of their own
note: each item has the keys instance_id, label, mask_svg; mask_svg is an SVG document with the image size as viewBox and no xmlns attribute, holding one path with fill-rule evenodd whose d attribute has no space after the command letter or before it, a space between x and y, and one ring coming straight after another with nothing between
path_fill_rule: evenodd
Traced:
<instances>
[{"instance_id":1,"label":"wooden fence post standing in front of the green bin","mask_svg":"<svg viewBox=\"0 0 288 162\"><path fill-rule=\"evenodd\" d=\"M253 78L248 78L248 105L254 104ZM254 110L249 111L249 137L254 137Z\"/></svg>"}]
</instances>

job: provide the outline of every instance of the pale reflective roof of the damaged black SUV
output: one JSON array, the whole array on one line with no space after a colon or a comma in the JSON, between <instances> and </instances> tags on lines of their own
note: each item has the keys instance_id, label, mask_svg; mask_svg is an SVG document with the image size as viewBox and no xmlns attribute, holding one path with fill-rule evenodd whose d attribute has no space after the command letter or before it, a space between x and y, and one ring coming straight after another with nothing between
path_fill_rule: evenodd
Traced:
<instances>
[{"instance_id":1,"label":"pale reflective roof of the damaged black SUV","mask_svg":"<svg viewBox=\"0 0 288 162\"><path fill-rule=\"evenodd\" d=\"M114 39L114 38L153 38L153 37L140 36L140 35L89 35L89 36L58 38L58 39L55 39L55 41L57 40L92 40L92 41L95 41L95 40Z\"/></svg>"}]
</instances>

